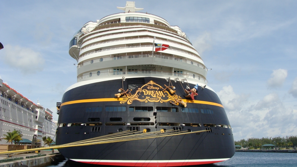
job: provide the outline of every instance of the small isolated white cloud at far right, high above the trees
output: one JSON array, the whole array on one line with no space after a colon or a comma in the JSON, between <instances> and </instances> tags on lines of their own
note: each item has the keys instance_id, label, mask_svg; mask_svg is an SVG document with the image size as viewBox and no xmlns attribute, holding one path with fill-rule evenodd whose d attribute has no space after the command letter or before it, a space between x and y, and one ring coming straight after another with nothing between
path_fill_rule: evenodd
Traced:
<instances>
[{"instance_id":1,"label":"small isolated white cloud at far right, high above the trees","mask_svg":"<svg viewBox=\"0 0 297 167\"><path fill-rule=\"evenodd\" d=\"M282 86L285 79L287 78L288 71L284 69L273 70L271 78L268 79L267 83L269 87Z\"/></svg>"}]
</instances>

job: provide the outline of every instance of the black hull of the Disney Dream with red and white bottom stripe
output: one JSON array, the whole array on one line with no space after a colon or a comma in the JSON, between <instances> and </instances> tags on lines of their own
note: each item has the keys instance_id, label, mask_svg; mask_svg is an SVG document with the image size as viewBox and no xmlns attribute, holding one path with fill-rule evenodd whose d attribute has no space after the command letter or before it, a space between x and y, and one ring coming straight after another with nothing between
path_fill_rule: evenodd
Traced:
<instances>
[{"instance_id":1,"label":"black hull of the Disney Dream with red and white bottom stripe","mask_svg":"<svg viewBox=\"0 0 297 167\"><path fill-rule=\"evenodd\" d=\"M145 83L154 81L164 86L168 82L163 78L144 78ZM172 82L176 87L176 94L185 99L183 88L179 81ZM182 84L185 88L186 84ZM193 84L189 84L194 86ZM106 122L111 122L111 117L122 118L118 122L135 122L135 117L150 118L155 123L153 111L136 112L129 111L130 106L152 106L156 107L177 107L178 112L158 112L158 122L176 122L184 123L200 123L201 126L138 126L140 131L150 128L151 131L159 131L163 128L171 130L172 127L181 127L182 131L198 131L205 130L203 124L230 125L227 115L220 102L217 94L209 89L203 89L199 86L198 96L195 100L208 103L187 103L187 108L198 108L199 113L181 112L181 106L173 106L169 102L140 102L134 100L132 104L119 101L100 101L85 102L63 105L65 102L84 99L104 99L113 98L117 90L122 87L122 80L104 81L99 83L91 83L79 86L67 91L62 99L58 123L87 123L89 118L100 118L102 122L100 132L91 132L91 126L70 126L59 127L56 134L57 145L70 142L85 140L98 136L117 133L119 128L128 130L127 125L107 126ZM124 88L127 88L127 82L124 81ZM136 91L133 90L132 94ZM86 108L90 106L102 106L101 112L86 112ZM104 106L124 106L126 111L107 112ZM210 109L213 114L203 114L200 109ZM115 121L116 122L116 121ZM143 122L143 121L142 121ZM79 146L72 148L59 149L65 157L84 163L100 164L100 165L116 165L116 166L185 166L198 165L221 162L231 158L235 153L235 146L231 128L226 127L210 127L213 133L191 133L186 135L168 136L161 138L150 138L135 141L125 141L109 144L98 144L91 146ZM168 132L169 133L169 132Z\"/></svg>"}]
</instances>

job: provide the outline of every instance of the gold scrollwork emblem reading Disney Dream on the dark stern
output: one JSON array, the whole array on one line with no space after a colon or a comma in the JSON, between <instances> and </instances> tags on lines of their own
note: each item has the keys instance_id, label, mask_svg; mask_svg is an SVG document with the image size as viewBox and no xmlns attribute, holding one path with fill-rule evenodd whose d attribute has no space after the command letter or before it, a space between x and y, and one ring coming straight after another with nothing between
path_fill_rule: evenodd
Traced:
<instances>
[{"instance_id":1,"label":"gold scrollwork emblem reading Disney Dream on the dark stern","mask_svg":"<svg viewBox=\"0 0 297 167\"><path fill-rule=\"evenodd\" d=\"M180 96L176 94L170 94L168 91L163 90L163 87L155 83L154 81L149 81L145 85L138 88L134 94L127 94L121 97L121 104L127 102L127 104L132 104L134 100L140 102L173 102L181 99Z\"/></svg>"}]
</instances>

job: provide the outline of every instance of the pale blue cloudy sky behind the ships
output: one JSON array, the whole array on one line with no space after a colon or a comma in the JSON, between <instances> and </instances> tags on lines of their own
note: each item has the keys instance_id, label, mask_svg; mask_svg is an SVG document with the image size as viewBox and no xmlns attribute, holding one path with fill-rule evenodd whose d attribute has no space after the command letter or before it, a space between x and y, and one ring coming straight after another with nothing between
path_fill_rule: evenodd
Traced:
<instances>
[{"instance_id":1,"label":"pale blue cloudy sky behind the ships","mask_svg":"<svg viewBox=\"0 0 297 167\"><path fill-rule=\"evenodd\" d=\"M56 111L76 82L68 54L88 21L121 12L126 1L1 1L0 76ZM212 69L235 140L297 135L297 1L135 1L179 26ZM58 115L54 115L57 119Z\"/></svg>"}]
</instances>

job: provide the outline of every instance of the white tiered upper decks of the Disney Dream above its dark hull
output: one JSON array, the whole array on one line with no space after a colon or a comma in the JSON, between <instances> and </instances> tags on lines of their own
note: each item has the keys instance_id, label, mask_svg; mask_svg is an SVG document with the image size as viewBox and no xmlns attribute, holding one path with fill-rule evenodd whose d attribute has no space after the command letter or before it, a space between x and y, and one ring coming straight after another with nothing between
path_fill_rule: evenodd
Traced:
<instances>
[{"instance_id":1,"label":"white tiered upper decks of the Disney Dream above its dark hull","mask_svg":"<svg viewBox=\"0 0 297 167\"><path fill-rule=\"evenodd\" d=\"M127 1L126 7L118 9L125 12L86 23L70 41L69 54L78 61L77 80L83 81L76 85L122 76L177 76L202 86L207 84L208 69L178 26L153 14L135 12L142 10L135 8L135 2ZM169 48L153 53L154 43Z\"/></svg>"}]
</instances>

